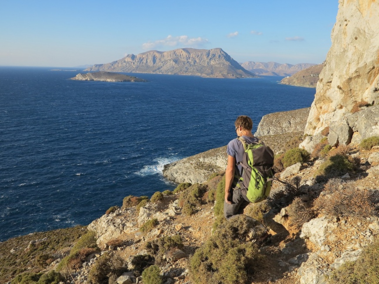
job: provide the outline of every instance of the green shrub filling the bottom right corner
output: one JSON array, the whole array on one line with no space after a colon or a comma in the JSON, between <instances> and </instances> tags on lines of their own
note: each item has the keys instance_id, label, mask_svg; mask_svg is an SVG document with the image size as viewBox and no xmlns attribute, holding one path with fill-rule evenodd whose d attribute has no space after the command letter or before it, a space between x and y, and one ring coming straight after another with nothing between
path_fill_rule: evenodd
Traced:
<instances>
[{"instance_id":1,"label":"green shrub filling the bottom right corner","mask_svg":"<svg viewBox=\"0 0 379 284\"><path fill-rule=\"evenodd\" d=\"M379 242L368 245L356 262L347 262L329 277L330 284L379 283Z\"/></svg>"}]
</instances>

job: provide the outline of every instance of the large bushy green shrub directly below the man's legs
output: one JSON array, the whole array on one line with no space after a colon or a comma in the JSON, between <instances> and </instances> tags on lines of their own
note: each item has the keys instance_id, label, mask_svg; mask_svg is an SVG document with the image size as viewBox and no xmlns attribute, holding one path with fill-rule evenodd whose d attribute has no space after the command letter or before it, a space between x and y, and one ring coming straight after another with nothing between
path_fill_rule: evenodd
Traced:
<instances>
[{"instance_id":1,"label":"large bushy green shrub directly below the man's legs","mask_svg":"<svg viewBox=\"0 0 379 284\"><path fill-rule=\"evenodd\" d=\"M243 215L220 225L191 257L191 280L195 284L251 283L261 263L257 245L246 241L254 226L254 221ZM262 232L256 233L258 237Z\"/></svg>"}]
</instances>

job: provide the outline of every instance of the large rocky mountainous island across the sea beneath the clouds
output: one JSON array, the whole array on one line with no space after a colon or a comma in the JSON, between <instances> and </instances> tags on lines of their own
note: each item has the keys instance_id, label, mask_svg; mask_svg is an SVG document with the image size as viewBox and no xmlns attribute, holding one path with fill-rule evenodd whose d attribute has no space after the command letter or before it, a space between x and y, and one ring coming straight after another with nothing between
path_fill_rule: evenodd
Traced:
<instances>
[{"instance_id":1,"label":"large rocky mountainous island across the sea beneath the clouds","mask_svg":"<svg viewBox=\"0 0 379 284\"><path fill-rule=\"evenodd\" d=\"M221 48L210 50L179 48L165 52L151 50L138 55L130 54L110 63L96 64L86 70L216 78L254 77Z\"/></svg>"}]
</instances>

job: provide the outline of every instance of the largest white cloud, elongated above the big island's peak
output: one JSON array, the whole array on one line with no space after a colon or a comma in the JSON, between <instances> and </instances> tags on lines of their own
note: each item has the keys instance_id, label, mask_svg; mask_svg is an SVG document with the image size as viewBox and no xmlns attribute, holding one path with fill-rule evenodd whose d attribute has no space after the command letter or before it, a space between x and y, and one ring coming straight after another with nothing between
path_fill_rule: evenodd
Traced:
<instances>
[{"instance_id":1,"label":"largest white cloud, elongated above the big island's peak","mask_svg":"<svg viewBox=\"0 0 379 284\"><path fill-rule=\"evenodd\" d=\"M163 47L163 46L177 46L177 45L183 45L187 47L200 47L204 46L208 43L208 39L204 39L202 37L192 37L189 38L188 36L171 36L169 35L165 39L160 39L154 42L145 42L142 47L146 50L150 50L157 47Z\"/></svg>"}]
</instances>

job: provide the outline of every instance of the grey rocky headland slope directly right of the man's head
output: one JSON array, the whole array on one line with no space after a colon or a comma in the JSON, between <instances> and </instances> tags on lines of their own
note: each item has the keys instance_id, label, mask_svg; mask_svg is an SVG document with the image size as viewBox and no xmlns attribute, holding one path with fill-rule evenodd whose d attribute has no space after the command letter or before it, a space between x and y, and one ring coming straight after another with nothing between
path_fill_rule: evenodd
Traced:
<instances>
[{"instance_id":1,"label":"grey rocky headland slope directly right of the man's head","mask_svg":"<svg viewBox=\"0 0 379 284\"><path fill-rule=\"evenodd\" d=\"M310 108L274 112L263 115L254 136L276 135L304 131Z\"/></svg>"}]
</instances>

